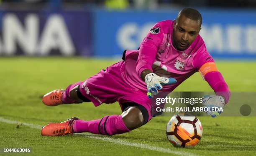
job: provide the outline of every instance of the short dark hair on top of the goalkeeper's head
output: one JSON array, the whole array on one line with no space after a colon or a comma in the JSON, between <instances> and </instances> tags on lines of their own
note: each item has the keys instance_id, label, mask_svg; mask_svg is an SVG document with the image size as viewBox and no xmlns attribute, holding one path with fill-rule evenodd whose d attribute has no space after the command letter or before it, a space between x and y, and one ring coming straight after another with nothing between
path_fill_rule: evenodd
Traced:
<instances>
[{"instance_id":1,"label":"short dark hair on top of the goalkeeper's head","mask_svg":"<svg viewBox=\"0 0 256 156\"><path fill-rule=\"evenodd\" d=\"M179 21L179 18L185 16L191 20L199 21L200 27L202 25L202 16L199 11L193 9L193 8L184 8L180 10L178 16L177 16L177 22Z\"/></svg>"}]
</instances>

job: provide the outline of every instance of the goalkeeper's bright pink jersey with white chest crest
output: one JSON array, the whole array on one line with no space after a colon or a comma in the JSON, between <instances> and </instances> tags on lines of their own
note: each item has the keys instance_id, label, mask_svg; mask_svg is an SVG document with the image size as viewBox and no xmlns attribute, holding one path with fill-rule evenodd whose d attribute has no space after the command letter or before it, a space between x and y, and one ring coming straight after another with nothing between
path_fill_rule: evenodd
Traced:
<instances>
[{"instance_id":1,"label":"goalkeeper's bright pink jersey with white chest crest","mask_svg":"<svg viewBox=\"0 0 256 156\"><path fill-rule=\"evenodd\" d=\"M153 29L155 28L155 29ZM150 69L161 77L173 77L177 83L165 85L162 92L171 92L185 79L198 71L206 62L214 62L207 52L205 42L198 35L187 50L176 50L172 45L174 21L156 23L141 42L139 50L125 52L125 64L121 68L121 78L133 89L147 92L146 83L140 74Z\"/></svg>"}]
</instances>

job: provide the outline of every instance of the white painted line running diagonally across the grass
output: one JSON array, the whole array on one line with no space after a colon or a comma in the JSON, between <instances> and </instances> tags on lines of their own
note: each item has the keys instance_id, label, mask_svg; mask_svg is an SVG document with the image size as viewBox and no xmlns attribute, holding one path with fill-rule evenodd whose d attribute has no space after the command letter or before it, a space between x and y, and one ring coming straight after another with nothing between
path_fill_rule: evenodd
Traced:
<instances>
[{"instance_id":1,"label":"white painted line running diagonally across the grass","mask_svg":"<svg viewBox=\"0 0 256 156\"><path fill-rule=\"evenodd\" d=\"M21 123L22 125L28 126L33 129L41 129L42 128L41 125L30 124L30 123L25 123L25 122L20 122L20 121L13 121L13 120L9 120L9 119L4 119L3 117L0 117L0 122L4 122L7 124L20 124ZM40 134L38 134L38 135L40 135ZM111 138L110 138L110 137L105 137L105 136L94 136L93 134L87 135L87 134L80 133L79 135L85 136L87 138L112 142L114 144L133 146L133 147L138 147L141 149L148 149L148 150L158 151L158 152L163 152L163 153L168 153L168 154L176 154L179 156L198 156L196 154L192 154L192 153L188 153L188 152L184 152L184 151L173 151L171 149L166 149L166 148L157 147L157 146L150 146L148 144L133 143L133 142L125 141L122 139L115 139L113 136L111 136Z\"/></svg>"}]
</instances>

